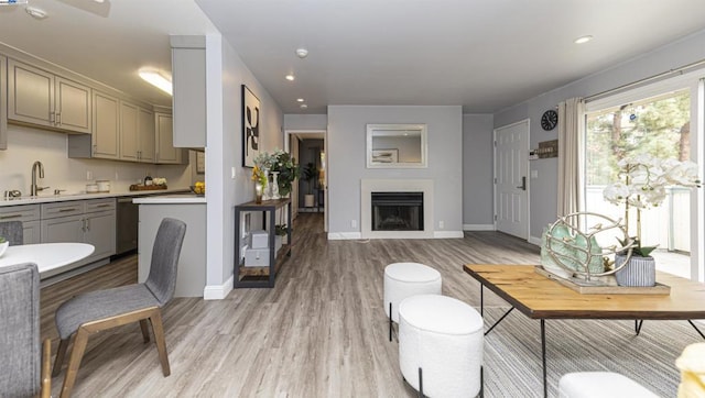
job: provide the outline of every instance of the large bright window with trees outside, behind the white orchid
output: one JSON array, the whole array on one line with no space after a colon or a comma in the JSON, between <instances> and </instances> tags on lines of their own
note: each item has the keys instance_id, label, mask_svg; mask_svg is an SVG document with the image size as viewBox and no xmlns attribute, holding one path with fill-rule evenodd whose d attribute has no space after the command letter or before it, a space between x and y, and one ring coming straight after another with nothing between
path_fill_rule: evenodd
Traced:
<instances>
[{"instance_id":1,"label":"large bright window with trees outside, behind the white orchid","mask_svg":"<svg viewBox=\"0 0 705 398\"><path fill-rule=\"evenodd\" d=\"M604 187L618 180L617 163L626 156L650 154L663 159L691 158L691 89L592 108L586 114L586 210L623 219L622 207L603 199ZM652 255L657 257L657 264L663 266L661 269L688 278L691 220L691 190L687 188L666 189L662 206L641 212L642 244L658 245L659 250ZM631 214L629 223L633 235L636 218Z\"/></svg>"}]
</instances>

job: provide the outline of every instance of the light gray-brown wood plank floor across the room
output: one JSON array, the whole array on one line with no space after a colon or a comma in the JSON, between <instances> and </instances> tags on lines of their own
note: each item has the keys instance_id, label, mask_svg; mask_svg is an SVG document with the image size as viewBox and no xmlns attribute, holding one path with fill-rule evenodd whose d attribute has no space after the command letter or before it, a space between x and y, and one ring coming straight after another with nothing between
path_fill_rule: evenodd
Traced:
<instances>
[{"instance_id":1,"label":"light gray-brown wood plank floor across the room","mask_svg":"<svg viewBox=\"0 0 705 398\"><path fill-rule=\"evenodd\" d=\"M479 306L466 263L536 264L538 247L495 232L455 240L327 241L323 215L294 223L292 257L273 289L237 289L225 300L177 298L164 309L172 374L138 324L91 336L75 397L413 397L382 309L384 266L438 269L443 294ZM66 298L137 279L134 256L42 290L42 334ZM507 306L486 295L486 305ZM58 395L64 372L53 379Z\"/></svg>"}]
</instances>

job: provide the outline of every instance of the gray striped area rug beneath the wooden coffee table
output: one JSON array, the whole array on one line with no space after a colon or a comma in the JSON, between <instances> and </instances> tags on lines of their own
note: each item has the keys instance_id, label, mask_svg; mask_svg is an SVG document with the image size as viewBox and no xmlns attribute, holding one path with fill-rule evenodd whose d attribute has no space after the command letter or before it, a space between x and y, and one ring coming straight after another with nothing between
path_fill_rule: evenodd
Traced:
<instances>
[{"instance_id":1,"label":"gray striped area rug beneath the wooden coffee table","mask_svg":"<svg viewBox=\"0 0 705 398\"><path fill-rule=\"evenodd\" d=\"M485 308L486 330L509 308ZM705 327L698 324L701 330ZM623 374L662 397L675 397L680 373L674 362L702 338L687 321L546 320L549 396L570 372ZM542 397L541 324L512 311L485 336L486 397Z\"/></svg>"}]
</instances>

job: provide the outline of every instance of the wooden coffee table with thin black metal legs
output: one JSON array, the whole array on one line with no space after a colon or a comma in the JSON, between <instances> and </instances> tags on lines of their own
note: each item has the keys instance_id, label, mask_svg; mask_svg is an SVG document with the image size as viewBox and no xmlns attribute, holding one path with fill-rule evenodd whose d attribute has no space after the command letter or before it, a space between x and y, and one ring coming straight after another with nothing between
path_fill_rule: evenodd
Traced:
<instances>
[{"instance_id":1,"label":"wooden coffee table with thin black metal legs","mask_svg":"<svg viewBox=\"0 0 705 398\"><path fill-rule=\"evenodd\" d=\"M670 295L582 295L555 280L535 273L534 265L467 264L463 268L480 284L480 314L484 316L484 287L492 290L512 307L485 334L488 334L514 308L541 321L541 356L543 396L546 386L546 319L620 319L634 322L639 334L644 319L705 319L705 284L665 273L657 273L657 281L671 287Z\"/></svg>"}]
</instances>

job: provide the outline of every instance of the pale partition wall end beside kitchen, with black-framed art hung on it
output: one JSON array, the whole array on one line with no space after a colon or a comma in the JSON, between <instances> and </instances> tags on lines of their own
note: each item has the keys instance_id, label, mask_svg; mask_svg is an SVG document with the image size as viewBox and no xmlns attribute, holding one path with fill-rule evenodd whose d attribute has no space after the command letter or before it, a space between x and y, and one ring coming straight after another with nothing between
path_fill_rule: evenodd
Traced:
<instances>
[{"instance_id":1,"label":"pale partition wall end beside kitchen, with black-framed art hung on it","mask_svg":"<svg viewBox=\"0 0 705 398\"><path fill-rule=\"evenodd\" d=\"M283 147L283 113L232 46L220 35L206 37L208 256L206 298L223 298L232 288L235 212L254 199L252 169L242 167L241 85L262 107L261 151ZM232 177L235 169L235 177Z\"/></svg>"}]
</instances>

